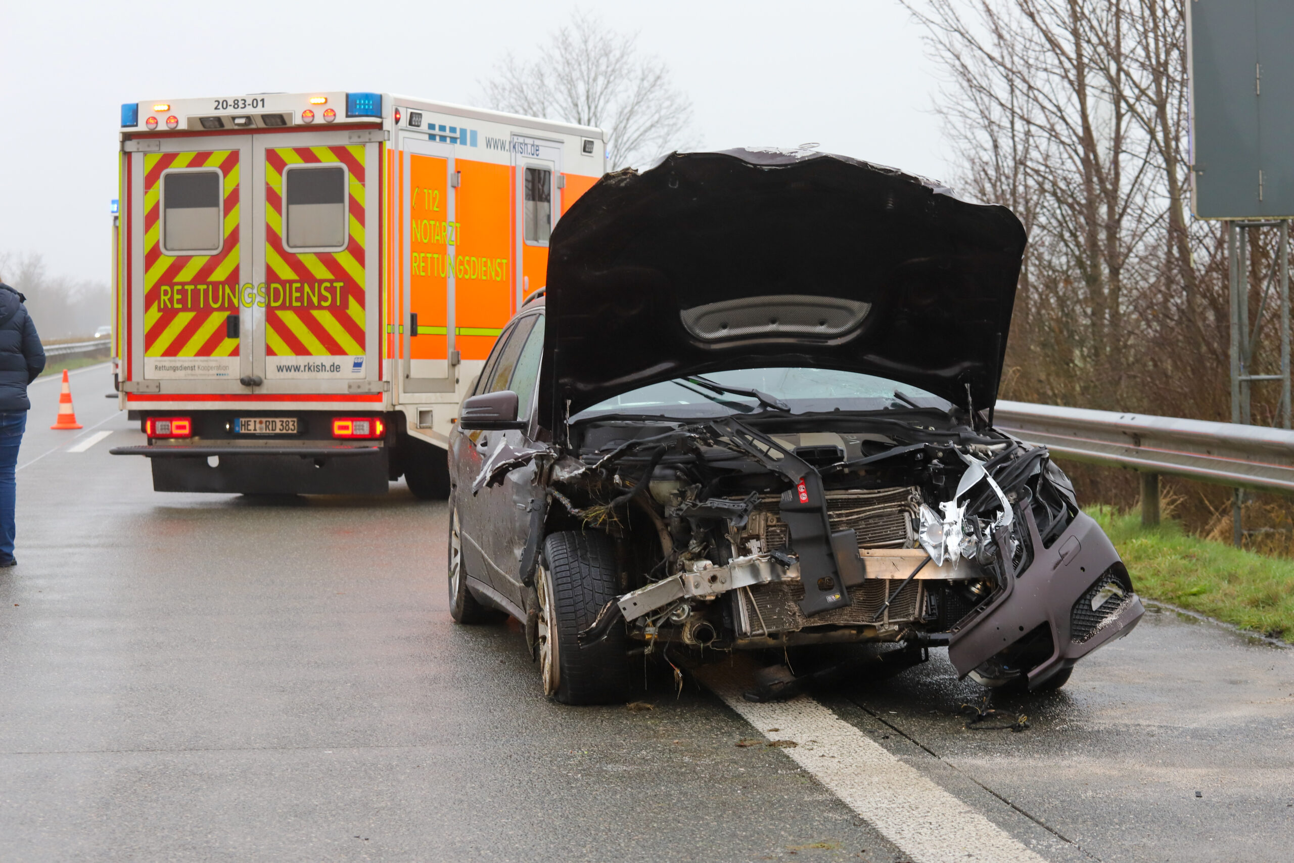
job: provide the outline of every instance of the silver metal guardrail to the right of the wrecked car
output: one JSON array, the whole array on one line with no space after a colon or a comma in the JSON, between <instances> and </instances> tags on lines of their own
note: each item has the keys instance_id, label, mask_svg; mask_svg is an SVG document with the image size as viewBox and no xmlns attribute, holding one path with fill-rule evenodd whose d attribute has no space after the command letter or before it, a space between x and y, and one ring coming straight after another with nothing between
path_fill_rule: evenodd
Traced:
<instances>
[{"instance_id":1,"label":"silver metal guardrail to the right of the wrecked car","mask_svg":"<svg viewBox=\"0 0 1294 863\"><path fill-rule=\"evenodd\" d=\"M999 401L994 426L1060 458L1140 472L1146 524L1159 520L1161 475L1294 496L1294 431L1284 428L1022 401Z\"/></svg>"}]
</instances>

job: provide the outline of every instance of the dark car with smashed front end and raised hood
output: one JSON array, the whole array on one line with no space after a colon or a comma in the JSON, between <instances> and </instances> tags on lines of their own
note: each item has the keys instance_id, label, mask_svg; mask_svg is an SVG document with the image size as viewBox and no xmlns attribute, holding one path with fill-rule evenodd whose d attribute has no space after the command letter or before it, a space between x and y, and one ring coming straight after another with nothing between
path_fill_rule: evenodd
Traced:
<instances>
[{"instance_id":1,"label":"dark car with smashed front end and raised hood","mask_svg":"<svg viewBox=\"0 0 1294 863\"><path fill-rule=\"evenodd\" d=\"M603 177L452 435L453 617L518 618L568 704L644 655L851 643L1062 686L1143 607L992 426L1024 248L1005 207L824 153Z\"/></svg>"}]
</instances>

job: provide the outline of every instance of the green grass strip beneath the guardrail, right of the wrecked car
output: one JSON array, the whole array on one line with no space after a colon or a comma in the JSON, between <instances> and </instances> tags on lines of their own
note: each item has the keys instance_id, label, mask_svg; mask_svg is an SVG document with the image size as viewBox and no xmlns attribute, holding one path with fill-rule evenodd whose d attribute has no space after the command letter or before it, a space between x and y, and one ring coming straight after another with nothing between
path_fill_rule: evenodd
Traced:
<instances>
[{"instance_id":1,"label":"green grass strip beneath the guardrail, right of the wrecked car","mask_svg":"<svg viewBox=\"0 0 1294 863\"><path fill-rule=\"evenodd\" d=\"M1272 638L1294 638L1294 560L1187 534L1176 521L1141 527L1139 512L1093 506L1136 591Z\"/></svg>"}]
</instances>

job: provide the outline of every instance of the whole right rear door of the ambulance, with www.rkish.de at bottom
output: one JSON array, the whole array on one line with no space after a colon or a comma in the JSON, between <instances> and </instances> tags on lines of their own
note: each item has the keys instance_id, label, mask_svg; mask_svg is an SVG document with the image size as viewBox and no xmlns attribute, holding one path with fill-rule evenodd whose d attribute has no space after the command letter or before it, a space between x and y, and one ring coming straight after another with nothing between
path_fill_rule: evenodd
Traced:
<instances>
[{"instance_id":1,"label":"whole right rear door of the ambulance, with www.rkish.de at bottom","mask_svg":"<svg viewBox=\"0 0 1294 863\"><path fill-rule=\"evenodd\" d=\"M380 129L258 135L252 374L268 393L375 392ZM373 217L369 217L369 215Z\"/></svg>"}]
</instances>

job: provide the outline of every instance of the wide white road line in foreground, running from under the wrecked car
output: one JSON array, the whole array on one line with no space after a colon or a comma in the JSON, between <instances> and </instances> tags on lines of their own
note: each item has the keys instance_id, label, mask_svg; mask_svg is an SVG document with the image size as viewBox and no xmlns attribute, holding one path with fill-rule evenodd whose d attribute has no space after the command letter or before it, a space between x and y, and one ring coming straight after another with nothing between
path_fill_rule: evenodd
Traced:
<instances>
[{"instance_id":1,"label":"wide white road line in foreground, running from under the wrecked car","mask_svg":"<svg viewBox=\"0 0 1294 863\"><path fill-rule=\"evenodd\" d=\"M915 863L1044 863L1036 853L943 791L811 697L756 704L731 673L701 679L760 734L778 728L783 749L806 772L897 845Z\"/></svg>"}]
</instances>

